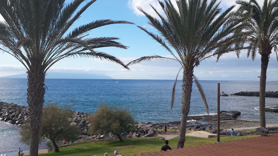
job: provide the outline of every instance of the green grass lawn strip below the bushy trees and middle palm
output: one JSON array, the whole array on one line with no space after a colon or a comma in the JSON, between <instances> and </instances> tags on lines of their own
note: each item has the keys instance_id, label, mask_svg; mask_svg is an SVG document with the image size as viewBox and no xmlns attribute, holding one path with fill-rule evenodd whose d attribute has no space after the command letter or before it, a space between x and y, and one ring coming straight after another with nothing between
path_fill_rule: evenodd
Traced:
<instances>
[{"instance_id":1,"label":"green grass lawn strip below the bushy trees and middle palm","mask_svg":"<svg viewBox=\"0 0 278 156\"><path fill-rule=\"evenodd\" d=\"M239 140L244 138L254 138L259 135L251 136L238 136L238 137L221 137L220 142ZM185 141L185 146L199 146L201 144L211 144L215 143L217 138L195 138L187 137ZM178 138L170 139L169 146L171 148L177 147ZM114 155L114 151L118 150L120 155L134 155L141 153L148 153L154 151L160 151L161 147L164 145L164 140L159 140L158 138L138 138L138 139L126 139L123 142L119 140L104 140L104 141L93 141L93 142L83 142L78 144L72 144L69 146L59 148L59 153L45 153L39 154L39 156L55 156L55 155L67 155L67 156L103 156L107 152L110 156Z\"/></svg>"}]
</instances>

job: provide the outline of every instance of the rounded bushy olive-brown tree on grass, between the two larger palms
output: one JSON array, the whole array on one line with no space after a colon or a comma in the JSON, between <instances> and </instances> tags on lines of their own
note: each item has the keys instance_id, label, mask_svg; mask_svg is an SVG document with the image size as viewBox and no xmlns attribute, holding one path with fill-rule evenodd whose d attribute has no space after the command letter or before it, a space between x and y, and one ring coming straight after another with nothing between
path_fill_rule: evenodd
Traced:
<instances>
[{"instance_id":1,"label":"rounded bushy olive-brown tree on grass, between the two larger palms","mask_svg":"<svg viewBox=\"0 0 278 156\"><path fill-rule=\"evenodd\" d=\"M120 141L122 140L121 133L135 129L136 122L134 117L127 108L116 108L115 106L107 106L100 103L94 115L89 116L90 122L89 133L105 134L109 132L116 135Z\"/></svg>"}]
</instances>

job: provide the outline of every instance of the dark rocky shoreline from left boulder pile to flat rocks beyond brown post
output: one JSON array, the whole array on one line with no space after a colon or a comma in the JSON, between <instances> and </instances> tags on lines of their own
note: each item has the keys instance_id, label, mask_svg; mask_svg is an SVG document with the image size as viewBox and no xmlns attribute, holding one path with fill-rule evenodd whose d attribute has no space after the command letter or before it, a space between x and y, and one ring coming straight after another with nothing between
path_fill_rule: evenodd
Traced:
<instances>
[{"instance_id":1,"label":"dark rocky shoreline from left boulder pile to flat rocks beyond brown post","mask_svg":"<svg viewBox=\"0 0 278 156\"><path fill-rule=\"evenodd\" d=\"M27 118L27 106L20 106L13 103L0 102L0 121L8 122L13 125L20 126ZM240 115L239 111L222 111L220 112L220 133L229 135L226 131L231 128L243 127L258 127L258 121L237 120ZM88 114L80 112L72 112L72 125L80 128L82 135L89 135L89 122L86 120ZM189 116L186 125L187 130L208 131L210 133L217 133L217 115L203 115L203 116ZM135 134L140 134L140 137L152 137L153 134L165 131L179 131L180 121L165 122L165 123L151 123L140 122L137 124L137 129L131 132L125 132L125 138L131 138ZM222 131L222 132L221 132Z\"/></svg>"}]
</instances>

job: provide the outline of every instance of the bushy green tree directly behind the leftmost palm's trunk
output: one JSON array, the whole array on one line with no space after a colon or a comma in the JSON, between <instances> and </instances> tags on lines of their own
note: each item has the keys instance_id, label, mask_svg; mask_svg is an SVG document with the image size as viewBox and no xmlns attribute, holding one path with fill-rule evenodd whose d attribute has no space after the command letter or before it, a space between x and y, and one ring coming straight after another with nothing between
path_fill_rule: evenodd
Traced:
<instances>
[{"instance_id":1,"label":"bushy green tree directly behind the leftmost palm's trunk","mask_svg":"<svg viewBox=\"0 0 278 156\"><path fill-rule=\"evenodd\" d=\"M80 129L71 125L72 111L67 107L59 108L58 103L47 103L43 108L43 116L39 137L40 140L49 139L54 146L55 152L59 152L57 143L63 139L75 141L80 134ZM30 144L29 123L23 126L21 131L21 141Z\"/></svg>"}]
</instances>

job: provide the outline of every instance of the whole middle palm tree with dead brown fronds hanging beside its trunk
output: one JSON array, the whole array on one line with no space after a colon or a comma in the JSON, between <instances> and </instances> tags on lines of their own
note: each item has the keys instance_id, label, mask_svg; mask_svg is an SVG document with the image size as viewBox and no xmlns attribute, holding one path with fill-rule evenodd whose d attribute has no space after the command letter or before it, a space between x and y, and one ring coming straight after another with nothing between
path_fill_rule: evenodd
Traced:
<instances>
[{"instance_id":1,"label":"whole middle palm tree with dead brown fronds hanging beside its trunk","mask_svg":"<svg viewBox=\"0 0 278 156\"><path fill-rule=\"evenodd\" d=\"M156 8L151 6L159 16L159 19L138 7L149 19L148 23L158 31L159 35L147 31L144 27L138 27L160 43L172 57L158 55L144 56L129 62L127 66L153 59L171 59L180 63L183 70L182 118L177 148L183 148L193 79L204 100L206 111L209 113L202 86L193 74L194 67L197 67L206 58L240 49L241 47L234 46L233 44L234 39L240 33L235 35L232 32L242 24L235 20L231 20L228 23L232 15L231 10L234 6L222 12L222 9L219 7L220 3L216 3L216 0L212 0L209 3L207 0L188 0L188 2L187 0L178 0L176 3L178 8L175 8L171 1L159 1L164 14L160 14ZM174 103L177 78L178 75L173 86L171 108Z\"/></svg>"}]
</instances>

